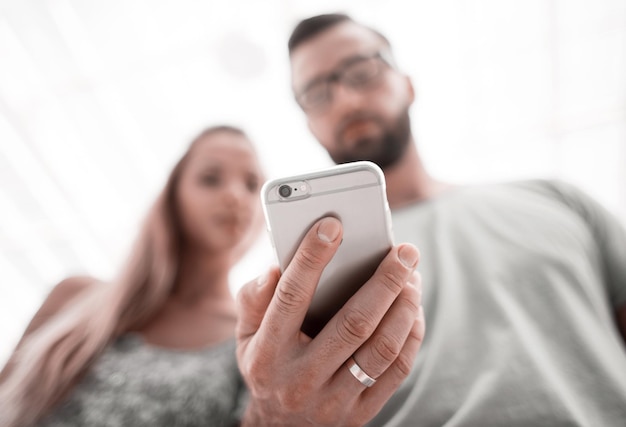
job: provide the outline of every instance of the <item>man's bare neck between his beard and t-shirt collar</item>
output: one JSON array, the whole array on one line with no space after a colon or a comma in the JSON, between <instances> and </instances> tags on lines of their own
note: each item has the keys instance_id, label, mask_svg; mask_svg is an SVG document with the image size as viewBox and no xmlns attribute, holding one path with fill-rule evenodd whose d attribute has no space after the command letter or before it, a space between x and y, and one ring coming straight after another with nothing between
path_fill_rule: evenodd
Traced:
<instances>
[{"instance_id":1,"label":"man's bare neck between his beard and t-shirt collar","mask_svg":"<svg viewBox=\"0 0 626 427\"><path fill-rule=\"evenodd\" d=\"M385 169L385 180L391 209L430 199L449 187L428 175L413 139L400 162Z\"/></svg>"}]
</instances>

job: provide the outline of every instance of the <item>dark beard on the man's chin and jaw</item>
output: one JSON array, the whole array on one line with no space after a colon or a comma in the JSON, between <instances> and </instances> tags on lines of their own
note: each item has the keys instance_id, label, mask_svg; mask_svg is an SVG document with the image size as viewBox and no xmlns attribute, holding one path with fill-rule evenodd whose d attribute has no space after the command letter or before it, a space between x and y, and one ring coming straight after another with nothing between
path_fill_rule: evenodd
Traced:
<instances>
[{"instance_id":1,"label":"dark beard on the man's chin and jaw","mask_svg":"<svg viewBox=\"0 0 626 427\"><path fill-rule=\"evenodd\" d=\"M338 136L339 137L339 136ZM393 126L385 126L378 138L359 139L350 151L328 153L337 164L369 160L381 169L395 165L409 145L411 137L411 119L409 109L404 110Z\"/></svg>"}]
</instances>

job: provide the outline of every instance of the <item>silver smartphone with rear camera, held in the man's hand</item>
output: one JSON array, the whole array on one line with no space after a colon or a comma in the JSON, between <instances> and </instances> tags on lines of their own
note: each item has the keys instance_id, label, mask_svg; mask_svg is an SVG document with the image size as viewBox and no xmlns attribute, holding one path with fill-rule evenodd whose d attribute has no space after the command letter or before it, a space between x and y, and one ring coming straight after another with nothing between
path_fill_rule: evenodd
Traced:
<instances>
[{"instance_id":1,"label":"silver smartphone with rear camera, held in the man's hand","mask_svg":"<svg viewBox=\"0 0 626 427\"><path fill-rule=\"evenodd\" d=\"M317 220L334 216L343 225L343 240L324 269L302 324L302 331L314 337L393 245L385 176L372 162L346 163L268 181L261 199L281 271Z\"/></svg>"}]
</instances>

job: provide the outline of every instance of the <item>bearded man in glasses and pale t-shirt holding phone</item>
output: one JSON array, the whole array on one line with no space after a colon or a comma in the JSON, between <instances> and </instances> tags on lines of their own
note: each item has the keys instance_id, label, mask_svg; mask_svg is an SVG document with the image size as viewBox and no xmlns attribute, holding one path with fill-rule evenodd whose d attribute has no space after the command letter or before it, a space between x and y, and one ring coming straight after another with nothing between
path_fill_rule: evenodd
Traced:
<instances>
[{"instance_id":1,"label":"bearded man in glasses and pale t-shirt holding phone","mask_svg":"<svg viewBox=\"0 0 626 427\"><path fill-rule=\"evenodd\" d=\"M411 134L413 86L376 31L345 15L317 16L295 28L289 49L292 87L314 136L335 162L372 160L385 172L396 240L420 248L428 333L410 374L378 412L396 383L386 381L379 391L378 383L359 389L355 378L385 379L385 365L372 362L384 353L377 351L381 346L362 340L356 363L341 369L328 354L315 352L331 348L344 356L352 350L339 339L340 328L304 347L267 320L280 311L298 313L291 318L297 323L306 308L310 276L319 274L316 268L330 255L323 248L301 248L304 258L315 260L300 263L309 265L307 271L295 267L298 274L285 272L280 280L274 272L263 291L242 291L242 310L250 314L242 311L238 352L251 391L248 415L272 414L268 424L286 425L371 418L372 425L623 426L626 233L617 221L560 182L452 188L433 180ZM287 304L280 297L269 302L273 287L267 283L277 280L290 296ZM410 287L400 295L405 289ZM253 300L259 294L265 297ZM360 294L344 309L372 310ZM373 319L388 332L389 319ZM421 335L415 336L419 341ZM411 350L398 352L397 359L395 351L388 352L388 369L417 352L412 339L404 345ZM280 365L272 360L277 353L288 354L279 356ZM322 367L319 374L306 362ZM304 377L292 370L296 366L304 367ZM297 387L285 386L285 375ZM366 398L371 410L354 405ZM320 402L326 415L316 418L309 405Z\"/></svg>"}]
</instances>

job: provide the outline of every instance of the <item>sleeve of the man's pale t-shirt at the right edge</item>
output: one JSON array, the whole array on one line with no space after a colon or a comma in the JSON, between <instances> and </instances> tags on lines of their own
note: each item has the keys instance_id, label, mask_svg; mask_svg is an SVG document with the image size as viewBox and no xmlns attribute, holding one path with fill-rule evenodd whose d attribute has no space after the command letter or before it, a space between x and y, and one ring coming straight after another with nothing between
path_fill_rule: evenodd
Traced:
<instances>
[{"instance_id":1,"label":"sleeve of the man's pale t-shirt at the right edge","mask_svg":"<svg viewBox=\"0 0 626 427\"><path fill-rule=\"evenodd\" d=\"M623 224L574 185L558 180L547 184L589 226L598 246L611 304L614 308L626 305L626 230Z\"/></svg>"}]
</instances>

